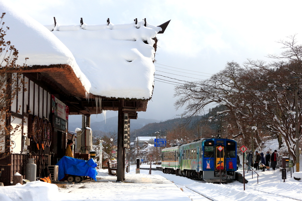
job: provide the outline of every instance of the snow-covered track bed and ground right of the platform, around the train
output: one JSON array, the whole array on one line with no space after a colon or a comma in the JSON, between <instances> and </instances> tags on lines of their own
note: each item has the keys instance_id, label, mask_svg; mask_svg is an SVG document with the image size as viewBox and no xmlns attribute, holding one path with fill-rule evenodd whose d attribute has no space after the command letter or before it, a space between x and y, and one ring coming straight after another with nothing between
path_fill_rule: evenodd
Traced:
<instances>
[{"instance_id":1,"label":"snow-covered track bed and ground right of the platform, around the train","mask_svg":"<svg viewBox=\"0 0 302 201\"><path fill-rule=\"evenodd\" d=\"M141 174L148 174L148 172L148 170L140 170ZM257 184L255 173L253 173L253 179L252 173L245 174L249 182L246 184L246 190L243 191L243 184L238 181L230 184L210 184L172 174L163 174L161 171L152 171L152 174L162 175L178 187L182 187L184 192L194 201L206 200L198 193L213 200L302 200L302 182L290 179L290 172L287 174L288 179L285 180L285 183L281 180L281 171L279 170L257 171L257 173L259 174L259 184Z\"/></svg>"}]
</instances>

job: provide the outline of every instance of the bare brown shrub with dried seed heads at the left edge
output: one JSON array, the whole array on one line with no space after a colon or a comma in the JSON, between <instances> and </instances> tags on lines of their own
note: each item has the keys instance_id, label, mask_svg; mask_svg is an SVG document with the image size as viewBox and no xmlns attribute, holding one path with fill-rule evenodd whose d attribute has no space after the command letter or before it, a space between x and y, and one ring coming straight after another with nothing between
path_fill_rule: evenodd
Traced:
<instances>
[{"instance_id":1,"label":"bare brown shrub with dried seed heads at the left edge","mask_svg":"<svg viewBox=\"0 0 302 201\"><path fill-rule=\"evenodd\" d=\"M2 24L0 28L0 159L13 152L14 142L10 141L10 137L21 133L21 124L14 127L10 124L14 121L10 107L13 100L20 93L21 87L24 86L24 80L21 78L20 72L26 66L25 64L23 66L16 64L18 50L11 45L10 41L5 41L4 37L9 28L4 27L4 15L5 13L2 13L0 20L0 24ZM19 110L20 108L21 106L19 106Z\"/></svg>"}]
</instances>

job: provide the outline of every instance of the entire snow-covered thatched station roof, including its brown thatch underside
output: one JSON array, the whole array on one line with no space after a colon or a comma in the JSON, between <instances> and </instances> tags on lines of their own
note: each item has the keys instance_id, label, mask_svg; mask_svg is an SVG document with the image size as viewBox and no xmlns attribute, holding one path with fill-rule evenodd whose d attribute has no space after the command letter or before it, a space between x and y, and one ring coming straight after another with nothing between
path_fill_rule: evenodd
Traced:
<instances>
[{"instance_id":1,"label":"entire snow-covered thatched station roof, including its brown thatch underside","mask_svg":"<svg viewBox=\"0 0 302 201\"><path fill-rule=\"evenodd\" d=\"M154 86L156 35L165 28L146 20L130 24L42 26L0 0L3 21L10 27L5 40L25 58L28 73L55 80L68 95L85 92L106 98L149 100ZM64 89L63 89L64 88ZM93 96L90 96L93 97Z\"/></svg>"}]
</instances>

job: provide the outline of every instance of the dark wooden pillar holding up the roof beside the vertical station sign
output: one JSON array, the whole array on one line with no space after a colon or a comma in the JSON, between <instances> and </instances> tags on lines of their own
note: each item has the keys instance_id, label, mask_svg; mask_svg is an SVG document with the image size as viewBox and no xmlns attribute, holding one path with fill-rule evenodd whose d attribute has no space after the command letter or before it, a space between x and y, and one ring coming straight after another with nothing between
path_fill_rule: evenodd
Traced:
<instances>
[{"instance_id":1,"label":"dark wooden pillar holding up the roof beside the vertical station sign","mask_svg":"<svg viewBox=\"0 0 302 201\"><path fill-rule=\"evenodd\" d=\"M119 100L118 105L118 123L117 123L117 180L123 182L124 165L123 165L123 137L124 137L124 113L123 113L124 100Z\"/></svg>"}]
</instances>

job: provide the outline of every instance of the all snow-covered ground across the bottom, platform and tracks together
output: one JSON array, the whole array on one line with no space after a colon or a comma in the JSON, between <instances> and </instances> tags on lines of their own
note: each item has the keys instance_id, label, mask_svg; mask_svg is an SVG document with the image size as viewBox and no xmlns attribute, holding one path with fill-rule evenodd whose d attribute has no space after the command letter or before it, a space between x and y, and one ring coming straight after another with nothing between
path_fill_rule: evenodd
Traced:
<instances>
[{"instance_id":1,"label":"all snow-covered ground across the bottom, platform and tracks together","mask_svg":"<svg viewBox=\"0 0 302 201\"><path fill-rule=\"evenodd\" d=\"M135 174L135 168L134 165L130 167L130 173L126 173L125 183L116 183L116 177L109 176L108 171L104 169L98 170L98 182L79 183L63 188L40 181L23 186L0 187L0 200L208 200L204 196L212 200L302 200L302 182L290 179L288 173L288 179L283 183L279 170L257 171L259 184L255 173L253 179L251 173L246 173L249 183L243 191L243 184L238 181L229 184L210 184L163 174L162 171L152 171L152 174L148 175L149 170L140 170L141 174ZM299 175L302 176L301 173L296 173L296 176Z\"/></svg>"}]
</instances>

